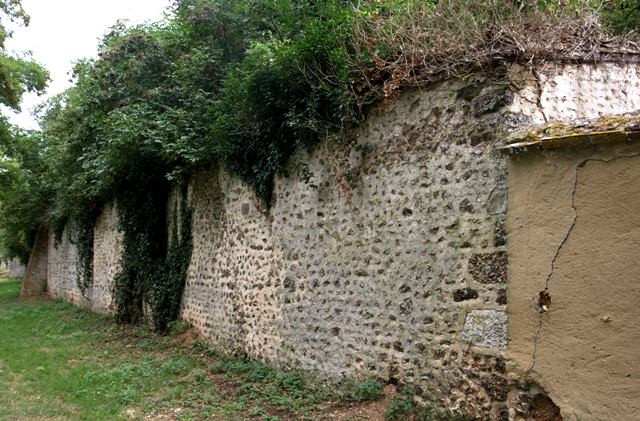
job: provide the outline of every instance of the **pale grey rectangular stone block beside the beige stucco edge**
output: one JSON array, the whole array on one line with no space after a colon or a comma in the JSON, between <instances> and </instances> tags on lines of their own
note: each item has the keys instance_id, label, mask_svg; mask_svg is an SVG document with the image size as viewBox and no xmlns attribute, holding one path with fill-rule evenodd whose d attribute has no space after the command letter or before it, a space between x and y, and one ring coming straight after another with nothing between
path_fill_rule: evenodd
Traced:
<instances>
[{"instance_id":1,"label":"pale grey rectangular stone block beside the beige stucco edge","mask_svg":"<svg viewBox=\"0 0 640 421\"><path fill-rule=\"evenodd\" d=\"M507 314L498 310L473 310L467 314L462 338L484 348L507 347Z\"/></svg>"}]
</instances>

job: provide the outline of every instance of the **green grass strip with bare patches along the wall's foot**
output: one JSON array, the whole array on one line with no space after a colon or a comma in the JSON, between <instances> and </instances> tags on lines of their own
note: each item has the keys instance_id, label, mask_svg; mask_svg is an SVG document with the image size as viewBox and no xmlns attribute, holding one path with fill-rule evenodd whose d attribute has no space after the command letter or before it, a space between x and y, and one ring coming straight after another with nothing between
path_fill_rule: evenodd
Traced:
<instances>
[{"instance_id":1,"label":"green grass strip with bare patches along the wall's foot","mask_svg":"<svg viewBox=\"0 0 640 421\"><path fill-rule=\"evenodd\" d=\"M398 399L375 401L377 381L329 388L225 356L181 326L160 337L19 290L0 280L0 421L382 420Z\"/></svg>"}]
</instances>

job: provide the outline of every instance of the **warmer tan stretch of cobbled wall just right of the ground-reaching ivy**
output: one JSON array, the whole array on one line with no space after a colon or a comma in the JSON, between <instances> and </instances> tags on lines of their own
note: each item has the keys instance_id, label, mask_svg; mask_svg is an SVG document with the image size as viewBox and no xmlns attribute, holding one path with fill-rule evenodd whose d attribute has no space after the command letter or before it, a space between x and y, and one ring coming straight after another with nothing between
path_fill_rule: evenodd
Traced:
<instances>
[{"instance_id":1,"label":"warmer tan stretch of cobbled wall just right of the ground-reaching ivy","mask_svg":"<svg viewBox=\"0 0 640 421\"><path fill-rule=\"evenodd\" d=\"M282 257L266 213L224 171L198 174L190 189L194 249L182 316L230 351L278 362Z\"/></svg>"}]
</instances>

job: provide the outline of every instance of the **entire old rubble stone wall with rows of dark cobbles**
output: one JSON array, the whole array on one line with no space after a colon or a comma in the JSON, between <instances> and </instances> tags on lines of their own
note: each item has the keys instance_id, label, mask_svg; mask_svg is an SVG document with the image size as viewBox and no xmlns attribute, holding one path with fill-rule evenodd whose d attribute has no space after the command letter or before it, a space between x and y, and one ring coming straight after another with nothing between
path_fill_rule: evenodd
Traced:
<instances>
[{"instance_id":1,"label":"entire old rubble stone wall with rows of dark cobbles","mask_svg":"<svg viewBox=\"0 0 640 421\"><path fill-rule=\"evenodd\" d=\"M271 209L224 169L194 175L182 317L230 352L408 382L470 418L513 418L510 193L496 142L555 119L634 110L640 78L613 64L510 74L508 84L470 78L403 94L354 145L300 151ZM121 237L115 211L103 216L91 298L108 310ZM77 301L73 244L50 247L50 260L50 289Z\"/></svg>"}]
</instances>

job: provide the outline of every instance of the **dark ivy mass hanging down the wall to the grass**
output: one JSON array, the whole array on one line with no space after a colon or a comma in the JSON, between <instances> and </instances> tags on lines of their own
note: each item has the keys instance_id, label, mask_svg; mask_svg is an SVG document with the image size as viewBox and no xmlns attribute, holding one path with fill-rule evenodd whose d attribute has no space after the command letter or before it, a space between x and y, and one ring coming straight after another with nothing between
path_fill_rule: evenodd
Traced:
<instances>
[{"instance_id":1,"label":"dark ivy mass hanging down the wall to the grass","mask_svg":"<svg viewBox=\"0 0 640 421\"><path fill-rule=\"evenodd\" d=\"M138 323L148 318L156 331L164 332L180 310L191 260L192 211L183 183L179 202L171 212L169 237L171 184L158 177L157 171L153 162L141 164L135 185L116 195L124 250L113 298L120 322Z\"/></svg>"}]
</instances>

